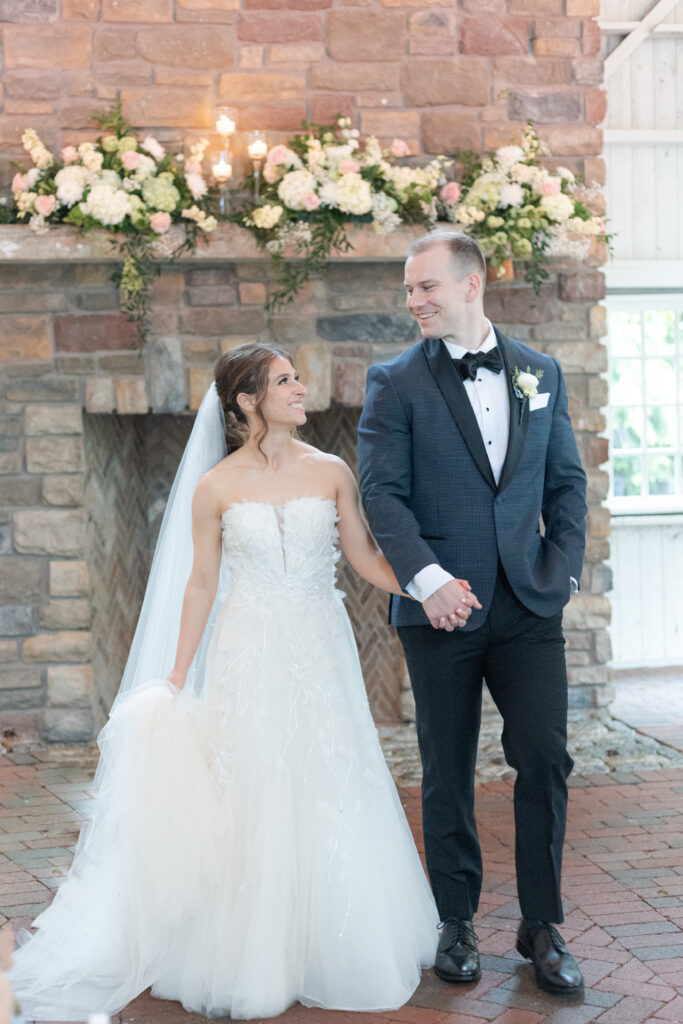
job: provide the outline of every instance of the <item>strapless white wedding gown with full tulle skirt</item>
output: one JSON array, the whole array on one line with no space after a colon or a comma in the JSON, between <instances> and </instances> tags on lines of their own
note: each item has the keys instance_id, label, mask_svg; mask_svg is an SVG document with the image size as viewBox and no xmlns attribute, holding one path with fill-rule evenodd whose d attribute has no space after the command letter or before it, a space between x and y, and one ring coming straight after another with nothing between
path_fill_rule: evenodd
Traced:
<instances>
[{"instance_id":1,"label":"strapless white wedding gown with full tulle skirt","mask_svg":"<svg viewBox=\"0 0 683 1024\"><path fill-rule=\"evenodd\" d=\"M148 986L206 1016L401 1006L437 913L335 589L336 508L223 516L229 585L201 697L156 680L100 733L92 822L11 979L27 1019Z\"/></svg>"}]
</instances>

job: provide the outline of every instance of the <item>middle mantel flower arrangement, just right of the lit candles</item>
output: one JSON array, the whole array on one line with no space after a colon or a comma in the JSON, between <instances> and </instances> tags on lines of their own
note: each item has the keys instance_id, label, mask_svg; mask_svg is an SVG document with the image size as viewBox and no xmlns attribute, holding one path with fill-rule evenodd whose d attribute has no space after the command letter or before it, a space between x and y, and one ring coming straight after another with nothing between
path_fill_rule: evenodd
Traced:
<instances>
[{"instance_id":1,"label":"middle mantel flower arrangement, just right of the lit candles","mask_svg":"<svg viewBox=\"0 0 683 1024\"><path fill-rule=\"evenodd\" d=\"M433 226L437 190L451 162L437 157L426 167L395 163L409 154L402 139L389 150L374 136L361 145L344 117L335 125L304 122L289 144L269 150L261 196L231 218L270 254L279 288L268 309L291 302L333 252L352 248L349 223L370 222L381 234L403 223ZM291 255L300 259L288 261Z\"/></svg>"}]
</instances>

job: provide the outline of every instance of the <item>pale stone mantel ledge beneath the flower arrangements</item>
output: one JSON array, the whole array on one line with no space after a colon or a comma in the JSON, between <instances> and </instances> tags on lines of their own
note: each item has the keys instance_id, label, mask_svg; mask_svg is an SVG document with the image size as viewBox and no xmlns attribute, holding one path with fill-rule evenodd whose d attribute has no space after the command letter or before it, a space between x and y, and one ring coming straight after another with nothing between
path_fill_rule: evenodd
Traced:
<instances>
[{"instance_id":1,"label":"pale stone mantel ledge beneath the flower arrangements","mask_svg":"<svg viewBox=\"0 0 683 1024\"><path fill-rule=\"evenodd\" d=\"M453 228L453 224L439 225ZM398 228L391 234L377 234L368 224L352 224L348 238L352 249L347 253L332 253L333 262L343 260L364 263L398 262L405 257L411 243L425 233L424 227L411 225ZM119 259L116 239L110 231L84 231L71 224L58 224L45 234L36 234L25 224L0 225L0 265L7 262L49 263L68 261L71 263L115 263ZM184 230L174 225L164 241L156 243L159 256L179 245L184 239ZM253 234L238 224L222 223L208 236L201 238L195 252L184 253L182 262L246 262L265 261L268 256L259 249Z\"/></svg>"}]
</instances>

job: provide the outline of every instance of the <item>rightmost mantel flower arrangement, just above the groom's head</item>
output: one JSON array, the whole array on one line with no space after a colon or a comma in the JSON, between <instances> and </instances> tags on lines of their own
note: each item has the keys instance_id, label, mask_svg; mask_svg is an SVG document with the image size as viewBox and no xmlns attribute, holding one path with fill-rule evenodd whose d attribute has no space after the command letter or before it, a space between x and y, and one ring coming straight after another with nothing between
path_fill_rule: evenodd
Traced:
<instances>
[{"instance_id":1,"label":"rightmost mantel flower arrangement, just above the groom's head","mask_svg":"<svg viewBox=\"0 0 683 1024\"><path fill-rule=\"evenodd\" d=\"M596 238L609 245L605 218L589 204L600 195L587 188L566 167L555 172L541 166L550 151L532 125L519 145L504 145L483 160L470 152L458 155L463 177L441 191L447 220L475 238L488 261L527 260L525 280L539 294L549 278L548 259L585 259Z\"/></svg>"}]
</instances>

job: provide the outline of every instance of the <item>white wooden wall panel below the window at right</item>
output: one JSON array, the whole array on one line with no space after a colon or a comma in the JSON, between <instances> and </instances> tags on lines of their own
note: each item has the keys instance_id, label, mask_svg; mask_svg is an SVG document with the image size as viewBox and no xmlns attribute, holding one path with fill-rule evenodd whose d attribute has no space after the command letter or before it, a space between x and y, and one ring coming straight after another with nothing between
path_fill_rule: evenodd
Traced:
<instances>
[{"instance_id":1,"label":"white wooden wall panel below the window at right","mask_svg":"<svg viewBox=\"0 0 683 1024\"><path fill-rule=\"evenodd\" d=\"M683 515L612 517L615 669L683 665Z\"/></svg>"}]
</instances>

